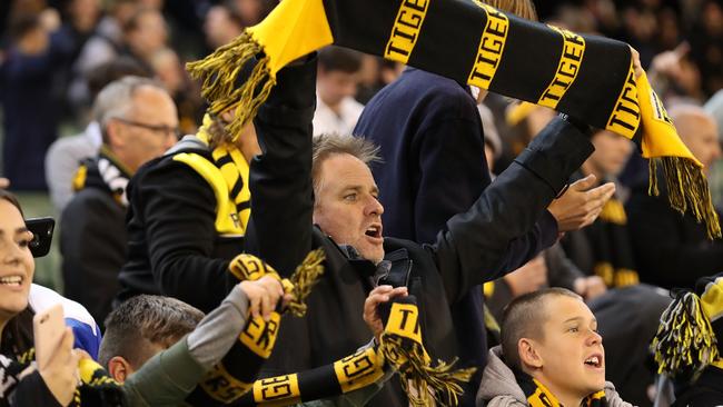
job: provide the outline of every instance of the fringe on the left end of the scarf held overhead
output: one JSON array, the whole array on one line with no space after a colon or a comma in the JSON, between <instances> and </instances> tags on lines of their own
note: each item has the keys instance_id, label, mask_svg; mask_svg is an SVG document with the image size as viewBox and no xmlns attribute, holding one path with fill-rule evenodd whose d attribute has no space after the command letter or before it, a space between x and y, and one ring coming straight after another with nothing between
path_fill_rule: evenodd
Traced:
<instances>
[{"instance_id":1,"label":"fringe on the left end of the scarf held overhead","mask_svg":"<svg viewBox=\"0 0 723 407\"><path fill-rule=\"evenodd\" d=\"M276 85L276 78L268 67L269 57L264 56L252 68L249 78L238 87L238 76L246 63L261 52L264 47L248 31L244 31L202 60L186 64L191 78L201 80L201 96L210 103L208 111L211 115L235 109L234 120L226 126L234 140L244 126L256 117Z\"/></svg>"}]
</instances>

